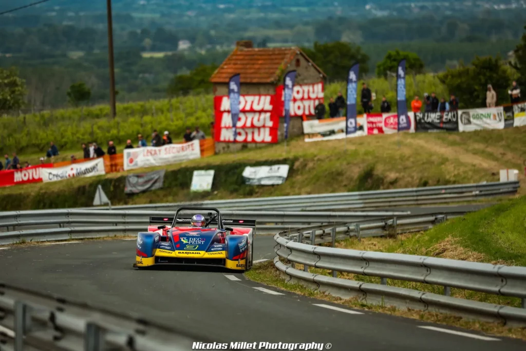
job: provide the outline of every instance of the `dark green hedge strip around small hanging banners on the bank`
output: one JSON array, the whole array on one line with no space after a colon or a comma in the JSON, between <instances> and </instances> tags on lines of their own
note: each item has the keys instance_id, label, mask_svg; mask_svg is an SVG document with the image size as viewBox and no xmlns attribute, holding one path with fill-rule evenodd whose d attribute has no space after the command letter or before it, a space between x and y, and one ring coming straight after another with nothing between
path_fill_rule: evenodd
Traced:
<instances>
[{"instance_id":1,"label":"dark green hedge strip around small hanging banners on the bank","mask_svg":"<svg viewBox=\"0 0 526 351\"><path fill-rule=\"evenodd\" d=\"M168 196L178 195L180 200L209 199L214 192L220 190L222 194L228 193L236 197L250 197L255 195L258 187L245 185L242 172L246 166L270 166L275 164L288 164L288 178L294 175L295 158L274 159L264 162L239 162L214 166L182 167L173 171L167 171L162 189L153 190L149 193L138 195L127 195L124 193L126 176L117 178L94 177L88 184L79 186L68 186L67 182L75 179L64 180L64 187L60 190L40 190L32 194L4 194L0 202L0 210L36 210L52 208L74 208L93 206L93 198L97 186L100 184L113 205L127 205L134 203L135 197L148 194L150 203L163 203ZM215 169L214 182L211 192L190 193L190 184L194 171L199 169ZM71 184L71 183L70 183ZM259 187L261 188L261 187ZM42 189L42 188L41 188Z\"/></svg>"}]
</instances>

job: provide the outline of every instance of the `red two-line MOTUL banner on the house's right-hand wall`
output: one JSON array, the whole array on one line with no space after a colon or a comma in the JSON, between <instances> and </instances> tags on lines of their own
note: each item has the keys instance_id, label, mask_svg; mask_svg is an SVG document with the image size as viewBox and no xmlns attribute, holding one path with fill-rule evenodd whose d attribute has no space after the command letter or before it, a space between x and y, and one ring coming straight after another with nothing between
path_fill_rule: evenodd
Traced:
<instances>
[{"instance_id":1,"label":"red two-line MOTUL banner on the house's right-hand wall","mask_svg":"<svg viewBox=\"0 0 526 351\"><path fill-rule=\"evenodd\" d=\"M323 102L323 87L323 82L295 85L292 100L290 102L290 116L315 116L316 113L314 112L314 109L316 108L316 105ZM276 96L279 104L276 113L279 116L285 116L285 94L283 85L276 87Z\"/></svg>"}]
</instances>

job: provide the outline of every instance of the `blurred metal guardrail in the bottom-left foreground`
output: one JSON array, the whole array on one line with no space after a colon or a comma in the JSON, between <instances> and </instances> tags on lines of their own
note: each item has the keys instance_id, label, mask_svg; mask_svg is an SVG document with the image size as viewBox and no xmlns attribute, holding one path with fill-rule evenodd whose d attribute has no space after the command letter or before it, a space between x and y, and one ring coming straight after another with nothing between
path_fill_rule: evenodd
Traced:
<instances>
[{"instance_id":1,"label":"blurred metal guardrail in the bottom-left foreground","mask_svg":"<svg viewBox=\"0 0 526 351\"><path fill-rule=\"evenodd\" d=\"M0 284L0 349L187 351L203 337ZM205 337L206 338L206 337Z\"/></svg>"}]
</instances>

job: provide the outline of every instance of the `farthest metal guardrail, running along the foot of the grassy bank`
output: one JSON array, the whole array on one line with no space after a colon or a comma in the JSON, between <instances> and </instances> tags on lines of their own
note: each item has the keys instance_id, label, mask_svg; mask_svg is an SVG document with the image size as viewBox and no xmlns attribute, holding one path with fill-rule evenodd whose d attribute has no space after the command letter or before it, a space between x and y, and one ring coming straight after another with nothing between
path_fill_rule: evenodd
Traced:
<instances>
[{"instance_id":1,"label":"farthest metal guardrail, running along the foot of the grassy bank","mask_svg":"<svg viewBox=\"0 0 526 351\"><path fill-rule=\"evenodd\" d=\"M147 204L112 206L112 209L126 210L175 210L180 206L208 206L221 210L368 210L393 206L419 206L468 202L484 197L512 195L517 193L519 182L494 182L430 186L420 188L375 190L367 192L277 196L230 200L206 200L170 204ZM83 209L107 209L108 207L87 207Z\"/></svg>"}]
</instances>

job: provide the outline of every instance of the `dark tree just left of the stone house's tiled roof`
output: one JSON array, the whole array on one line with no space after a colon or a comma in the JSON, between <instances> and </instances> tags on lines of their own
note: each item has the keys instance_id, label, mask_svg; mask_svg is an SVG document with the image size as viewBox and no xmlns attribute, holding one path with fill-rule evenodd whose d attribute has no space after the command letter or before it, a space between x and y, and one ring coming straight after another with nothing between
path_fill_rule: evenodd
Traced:
<instances>
[{"instance_id":1,"label":"dark tree just left of the stone house's tiled roof","mask_svg":"<svg viewBox=\"0 0 526 351\"><path fill-rule=\"evenodd\" d=\"M187 95L190 92L203 92L211 89L209 79L216 71L216 65L199 65L188 74L176 75L168 85L168 95Z\"/></svg>"}]
</instances>

